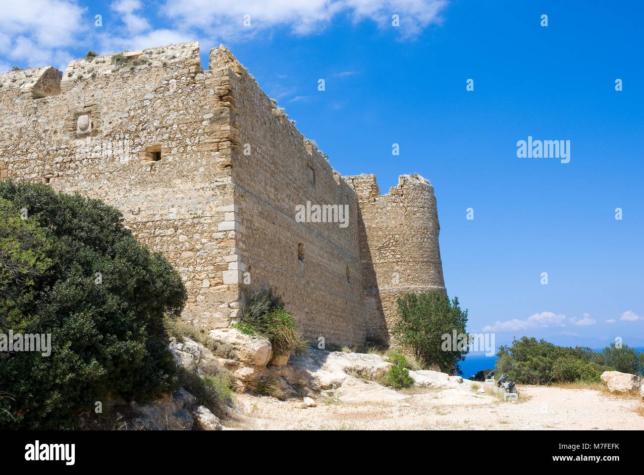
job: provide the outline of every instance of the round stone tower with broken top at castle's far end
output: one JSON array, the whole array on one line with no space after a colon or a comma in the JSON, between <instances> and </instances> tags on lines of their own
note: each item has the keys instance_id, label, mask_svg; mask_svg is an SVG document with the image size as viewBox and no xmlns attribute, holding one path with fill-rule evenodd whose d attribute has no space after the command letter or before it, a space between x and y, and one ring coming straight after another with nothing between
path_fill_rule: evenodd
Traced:
<instances>
[{"instance_id":1,"label":"round stone tower with broken top at castle's far end","mask_svg":"<svg viewBox=\"0 0 644 475\"><path fill-rule=\"evenodd\" d=\"M343 177L360 206L366 338L390 342L395 300L408 292L445 293L439 220L433 187L419 175L401 175L380 195L375 175Z\"/></svg>"}]
</instances>

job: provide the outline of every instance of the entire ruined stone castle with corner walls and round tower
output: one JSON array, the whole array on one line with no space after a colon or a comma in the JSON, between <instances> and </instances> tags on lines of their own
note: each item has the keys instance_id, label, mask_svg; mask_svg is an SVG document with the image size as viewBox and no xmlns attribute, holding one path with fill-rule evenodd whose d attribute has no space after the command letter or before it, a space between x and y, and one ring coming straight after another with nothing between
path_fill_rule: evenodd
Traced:
<instances>
[{"instance_id":1,"label":"entire ruined stone castle with corner walls and round tower","mask_svg":"<svg viewBox=\"0 0 644 475\"><path fill-rule=\"evenodd\" d=\"M2 73L0 104L0 178L120 209L182 275L198 327L270 286L308 339L386 344L397 296L445 291L430 182L381 195L374 175L341 177L224 46L209 70L192 42ZM307 202L348 225L296 219Z\"/></svg>"}]
</instances>

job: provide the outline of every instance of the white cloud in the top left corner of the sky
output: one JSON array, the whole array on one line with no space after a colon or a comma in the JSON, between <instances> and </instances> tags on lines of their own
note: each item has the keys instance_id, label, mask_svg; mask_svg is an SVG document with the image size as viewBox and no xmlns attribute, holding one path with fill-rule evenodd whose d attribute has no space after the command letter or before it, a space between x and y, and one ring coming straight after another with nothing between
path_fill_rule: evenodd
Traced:
<instances>
[{"instance_id":1,"label":"white cloud in the top left corner of the sky","mask_svg":"<svg viewBox=\"0 0 644 475\"><path fill-rule=\"evenodd\" d=\"M0 12L0 56L27 66L64 68L87 28L76 0L0 0Z\"/></svg>"}]
</instances>

